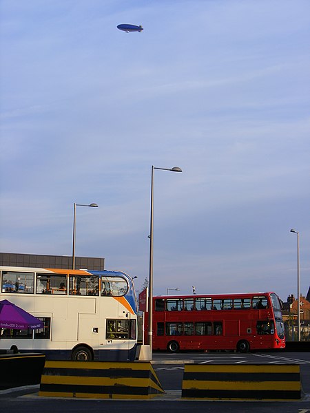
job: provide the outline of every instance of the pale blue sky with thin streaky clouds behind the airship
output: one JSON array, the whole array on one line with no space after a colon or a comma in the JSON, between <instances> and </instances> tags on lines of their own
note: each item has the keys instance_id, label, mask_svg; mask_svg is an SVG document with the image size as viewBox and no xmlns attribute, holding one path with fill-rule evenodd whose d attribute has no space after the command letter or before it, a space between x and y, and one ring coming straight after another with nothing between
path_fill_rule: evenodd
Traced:
<instances>
[{"instance_id":1,"label":"pale blue sky with thin streaky clouds behind the airship","mask_svg":"<svg viewBox=\"0 0 310 413\"><path fill-rule=\"evenodd\" d=\"M308 0L0 0L0 251L154 295L310 285ZM120 23L143 25L125 33Z\"/></svg>"}]
</instances>

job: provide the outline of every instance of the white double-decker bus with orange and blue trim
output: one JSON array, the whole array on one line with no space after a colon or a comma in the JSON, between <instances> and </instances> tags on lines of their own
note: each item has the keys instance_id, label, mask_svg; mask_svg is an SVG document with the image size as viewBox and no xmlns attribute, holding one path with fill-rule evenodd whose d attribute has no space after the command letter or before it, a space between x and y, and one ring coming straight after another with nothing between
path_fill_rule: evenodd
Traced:
<instances>
[{"instance_id":1,"label":"white double-decker bus with orange and blue trim","mask_svg":"<svg viewBox=\"0 0 310 413\"><path fill-rule=\"evenodd\" d=\"M0 300L44 324L37 330L0 328L0 350L44 353L49 360L135 359L136 295L129 275L13 266L0 266L0 273Z\"/></svg>"}]
</instances>

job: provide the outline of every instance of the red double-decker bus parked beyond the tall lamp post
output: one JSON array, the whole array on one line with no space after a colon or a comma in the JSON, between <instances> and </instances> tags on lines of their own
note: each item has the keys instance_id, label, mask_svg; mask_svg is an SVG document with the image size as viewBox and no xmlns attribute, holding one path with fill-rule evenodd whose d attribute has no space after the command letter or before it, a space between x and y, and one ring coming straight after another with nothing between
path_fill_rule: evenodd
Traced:
<instances>
[{"instance_id":1,"label":"red double-decker bus parked beyond the tall lamp post","mask_svg":"<svg viewBox=\"0 0 310 413\"><path fill-rule=\"evenodd\" d=\"M282 306L275 293L154 297L153 328L153 350L285 348Z\"/></svg>"}]
</instances>

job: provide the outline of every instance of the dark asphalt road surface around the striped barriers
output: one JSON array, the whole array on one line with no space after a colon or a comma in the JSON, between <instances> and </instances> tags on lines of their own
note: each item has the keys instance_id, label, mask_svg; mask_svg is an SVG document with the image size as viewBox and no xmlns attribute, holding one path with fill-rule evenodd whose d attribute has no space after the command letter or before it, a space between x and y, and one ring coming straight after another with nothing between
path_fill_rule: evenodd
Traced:
<instances>
[{"instance_id":1,"label":"dark asphalt road surface around the striped barriers","mask_svg":"<svg viewBox=\"0 0 310 413\"><path fill-rule=\"evenodd\" d=\"M298 363L304 397L301 401L188 401L180 399L184 363ZM0 393L0 410L6 413L128 413L245 412L310 413L310 353L154 353L153 366L165 394L147 401L41 398L36 388Z\"/></svg>"}]
</instances>

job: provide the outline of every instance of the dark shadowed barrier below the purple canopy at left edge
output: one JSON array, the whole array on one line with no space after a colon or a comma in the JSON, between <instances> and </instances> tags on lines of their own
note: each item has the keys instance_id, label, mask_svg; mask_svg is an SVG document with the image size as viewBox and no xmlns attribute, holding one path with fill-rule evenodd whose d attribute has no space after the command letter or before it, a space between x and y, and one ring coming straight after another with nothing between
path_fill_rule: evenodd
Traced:
<instances>
[{"instance_id":1,"label":"dark shadowed barrier below the purple canopy at left edge","mask_svg":"<svg viewBox=\"0 0 310 413\"><path fill-rule=\"evenodd\" d=\"M44 363L44 354L0 354L0 390L39 384Z\"/></svg>"}]
</instances>

